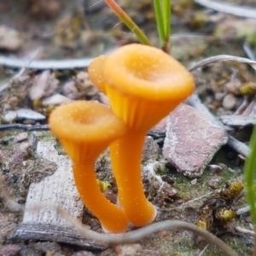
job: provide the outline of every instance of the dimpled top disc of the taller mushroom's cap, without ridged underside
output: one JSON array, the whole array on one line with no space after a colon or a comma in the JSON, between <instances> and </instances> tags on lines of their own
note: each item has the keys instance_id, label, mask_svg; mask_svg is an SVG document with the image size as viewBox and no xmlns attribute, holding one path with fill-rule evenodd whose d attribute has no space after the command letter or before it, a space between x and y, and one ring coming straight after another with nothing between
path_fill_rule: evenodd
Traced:
<instances>
[{"instance_id":1,"label":"dimpled top disc of the taller mushroom's cap, without ridged underside","mask_svg":"<svg viewBox=\"0 0 256 256\"><path fill-rule=\"evenodd\" d=\"M104 60L109 86L119 93L162 102L185 100L194 90L189 71L161 49L127 44Z\"/></svg>"}]
</instances>

